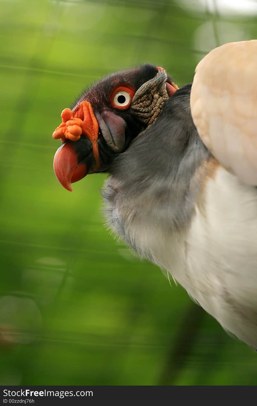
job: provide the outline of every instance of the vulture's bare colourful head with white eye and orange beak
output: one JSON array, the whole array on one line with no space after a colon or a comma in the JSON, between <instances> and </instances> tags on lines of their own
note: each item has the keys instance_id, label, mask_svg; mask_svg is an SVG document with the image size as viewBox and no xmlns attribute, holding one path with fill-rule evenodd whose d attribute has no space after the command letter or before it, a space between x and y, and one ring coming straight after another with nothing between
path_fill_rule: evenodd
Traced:
<instances>
[{"instance_id":1,"label":"vulture's bare colourful head with white eye and orange beak","mask_svg":"<svg viewBox=\"0 0 257 406\"><path fill-rule=\"evenodd\" d=\"M163 68L146 64L113 73L84 91L71 110L63 110L53 133L62 141L54 157L60 183L72 191L71 183L107 171L177 89Z\"/></svg>"}]
</instances>

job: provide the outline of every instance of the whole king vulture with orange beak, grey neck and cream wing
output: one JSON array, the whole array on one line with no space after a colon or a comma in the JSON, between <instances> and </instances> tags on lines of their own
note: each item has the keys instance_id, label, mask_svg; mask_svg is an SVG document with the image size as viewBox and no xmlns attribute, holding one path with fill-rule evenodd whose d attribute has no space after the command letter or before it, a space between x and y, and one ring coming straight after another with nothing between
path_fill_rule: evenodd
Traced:
<instances>
[{"instance_id":1,"label":"whole king vulture with orange beak, grey neck and cream wing","mask_svg":"<svg viewBox=\"0 0 257 406\"><path fill-rule=\"evenodd\" d=\"M149 64L113 73L61 117L60 183L107 172L110 229L257 348L257 40L212 50L180 89Z\"/></svg>"}]
</instances>

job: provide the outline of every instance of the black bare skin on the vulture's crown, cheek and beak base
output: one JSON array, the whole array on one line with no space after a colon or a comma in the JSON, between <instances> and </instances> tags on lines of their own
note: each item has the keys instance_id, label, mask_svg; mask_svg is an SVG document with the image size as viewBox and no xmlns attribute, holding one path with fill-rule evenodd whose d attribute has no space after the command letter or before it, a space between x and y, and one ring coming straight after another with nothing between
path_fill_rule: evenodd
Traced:
<instances>
[{"instance_id":1,"label":"black bare skin on the vulture's crown, cheek and beak base","mask_svg":"<svg viewBox=\"0 0 257 406\"><path fill-rule=\"evenodd\" d=\"M110 95L113 89L118 86L129 86L136 92L143 83L152 79L157 73L158 69L148 64L135 69L113 73L95 83L90 89L84 91L73 104L73 108L83 101L88 101L91 103L95 115L97 113L102 115L104 111L110 111L121 117L127 124L125 130L125 145L121 151L123 152L127 149L130 142L145 129L145 124L140 121L131 106L127 109L113 107L110 101ZM171 78L168 78L167 82L171 83ZM113 159L117 156L117 153L106 144L100 127L97 145L99 149L101 172L105 172ZM78 154L78 162L86 163L89 173L90 171L94 171L95 162L91 142L82 136L80 140L73 142L73 146Z\"/></svg>"}]
</instances>

